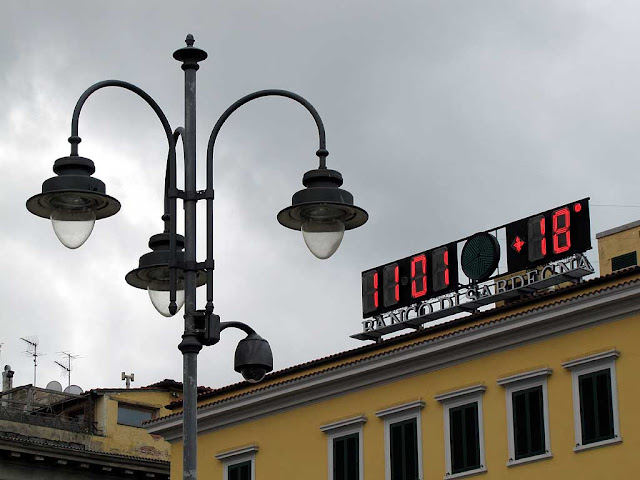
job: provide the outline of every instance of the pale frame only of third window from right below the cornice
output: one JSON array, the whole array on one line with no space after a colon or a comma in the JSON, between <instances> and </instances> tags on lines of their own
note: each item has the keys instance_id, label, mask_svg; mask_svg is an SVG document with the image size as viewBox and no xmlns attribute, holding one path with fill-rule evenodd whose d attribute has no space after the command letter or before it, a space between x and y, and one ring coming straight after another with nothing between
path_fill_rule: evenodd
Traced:
<instances>
[{"instance_id":1,"label":"pale frame only of third window from right below the cornice","mask_svg":"<svg viewBox=\"0 0 640 480\"><path fill-rule=\"evenodd\" d=\"M484 457L484 414L482 409L482 397L487 387L485 385L474 385L447 393L436 395L435 399L442 403L444 410L444 461L445 479L462 478L487 471ZM449 410L468 403L478 404L478 437L480 439L480 468L467 470L465 472L451 473L451 432L449 421Z\"/></svg>"}]
</instances>

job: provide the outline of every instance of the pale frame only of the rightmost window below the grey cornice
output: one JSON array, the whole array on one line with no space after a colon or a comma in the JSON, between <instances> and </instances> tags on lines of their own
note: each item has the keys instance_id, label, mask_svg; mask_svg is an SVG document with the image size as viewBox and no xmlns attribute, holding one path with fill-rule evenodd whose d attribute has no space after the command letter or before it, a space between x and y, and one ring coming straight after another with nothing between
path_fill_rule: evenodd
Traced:
<instances>
[{"instance_id":1,"label":"pale frame only of the rightmost window below the grey cornice","mask_svg":"<svg viewBox=\"0 0 640 480\"><path fill-rule=\"evenodd\" d=\"M620 436L620 415L618 411L618 382L616 380L616 359L620 352L616 349L595 353L575 360L564 362L562 366L571 371L571 386L573 389L573 429L576 446L574 452L590 450L592 448L613 445L622 442ZM611 376L611 406L613 408L613 434L614 437L600 442L582 444L582 422L580 418L580 385L578 379L581 375L609 369Z\"/></svg>"}]
</instances>

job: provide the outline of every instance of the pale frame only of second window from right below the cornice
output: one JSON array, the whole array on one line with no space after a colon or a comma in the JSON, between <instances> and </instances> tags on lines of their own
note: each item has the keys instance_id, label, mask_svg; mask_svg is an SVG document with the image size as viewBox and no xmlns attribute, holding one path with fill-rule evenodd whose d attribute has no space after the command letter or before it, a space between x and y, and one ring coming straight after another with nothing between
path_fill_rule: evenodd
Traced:
<instances>
[{"instance_id":1,"label":"pale frame only of second window from right below the cornice","mask_svg":"<svg viewBox=\"0 0 640 480\"><path fill-rule=\"evenodd\" d=\"M551 375L550 368L540 368L516 375L510 375L498 380L498 385L505 387L507 401L507 439L509 444L509 459L507 466L520 465L553 457L551 453L551 435L549 433L549 394L547 377ZM529 388L542 387L542 411L544 417L544 449L545 453L516 460L515 431L513 428L513 394Z\"/></svg>"}]
</instances>

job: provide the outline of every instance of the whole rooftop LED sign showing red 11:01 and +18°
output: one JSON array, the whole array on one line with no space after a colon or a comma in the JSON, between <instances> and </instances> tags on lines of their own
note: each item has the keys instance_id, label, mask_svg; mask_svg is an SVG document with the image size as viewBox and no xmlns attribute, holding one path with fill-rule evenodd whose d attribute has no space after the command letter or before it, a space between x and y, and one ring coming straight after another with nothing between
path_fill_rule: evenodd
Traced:
<instances>
[{"instance_id":1,"label":"whole rooftop LED sign showing red 11:01 and +18\u00b0","mask_svg":"<svg viewBox=\"0 0 640 480\"><path fill-rule=\"evenodd\" d=\"M503 239L502 247L498 237ZM362 316L382 315L462 287L475 288L497 275L505 249L507 270L501 274L535 268L590 248L589 199L585 198L363 272ZM467 285L459 283L459 262Z\"/></svg>"}]
</instances>

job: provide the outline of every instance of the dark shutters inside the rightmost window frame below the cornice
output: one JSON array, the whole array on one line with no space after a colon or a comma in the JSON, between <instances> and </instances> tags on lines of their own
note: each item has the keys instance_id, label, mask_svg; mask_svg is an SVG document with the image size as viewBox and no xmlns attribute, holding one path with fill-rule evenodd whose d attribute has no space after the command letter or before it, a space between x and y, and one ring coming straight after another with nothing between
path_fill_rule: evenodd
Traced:
<instances>
[{"instance_id":1,"label":"dark shutters inside the rightmost window frame below the cornice","mask_svg":"<svg viewBox=\"0 0 640 480\"><path fill-rule=\"evenodd\" d=\"M580 419L582 443L593 443L614 437L611 370L580 375Z\"/></svg>"}]
</instances>

